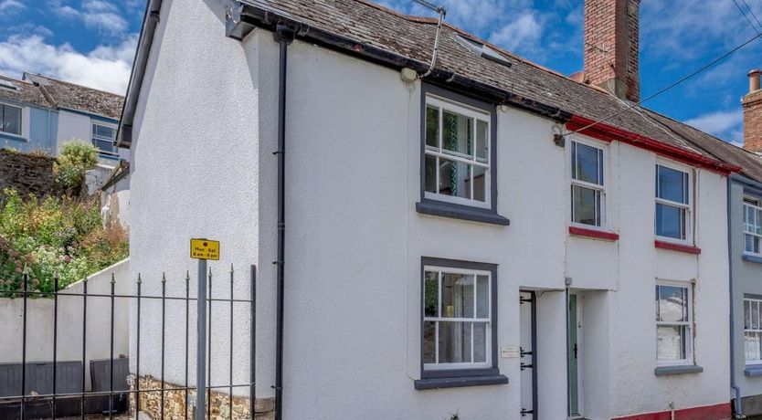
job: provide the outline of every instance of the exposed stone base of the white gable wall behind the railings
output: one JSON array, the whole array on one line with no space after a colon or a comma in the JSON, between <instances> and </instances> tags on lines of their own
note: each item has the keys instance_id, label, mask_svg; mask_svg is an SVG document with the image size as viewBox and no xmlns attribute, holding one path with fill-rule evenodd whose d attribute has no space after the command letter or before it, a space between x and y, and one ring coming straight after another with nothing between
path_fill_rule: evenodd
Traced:
<instances>
[{"instance_id":1,"label":"exposed stone base of the white gable wall behind the railings","mask_svg":"<svg viewBox=\"0 0 762 420\"><path fill-rule=\"evenodd\" d=\"M140 389L153 390L161 389L162 382L152 376L142 376L140 378ZM164 383L164 389L182 388L182 385L175 383ZM134 377L132 377L132 391L134 391ZM196 391L188 391L188 418L196 417ZM135 413L134 394L130 394L130 413ZM209 420L245 420L251 418L248 397L233 397L233 412L230 414L230 398L228 394L213 391L211 394L211 417ZM140 411L151 419L162 418L162 393L159 391L150 391L140 393ZM262 420L271 420L275 415L275 402L272 398L261 398L257 400L254 408L256 418ZM164 418L179 419L185 418L185 390L164 392Z\"/></svg>"}]
</instances>

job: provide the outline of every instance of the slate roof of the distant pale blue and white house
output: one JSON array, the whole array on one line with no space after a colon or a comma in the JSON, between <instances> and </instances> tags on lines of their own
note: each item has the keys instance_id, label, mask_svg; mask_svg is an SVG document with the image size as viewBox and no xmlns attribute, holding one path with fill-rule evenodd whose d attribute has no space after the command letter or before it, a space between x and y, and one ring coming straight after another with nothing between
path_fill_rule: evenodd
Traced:
<instances>
[{"instance_id":1,"label":"slate roof of the distant pale blue and white house","mask_svg":"<svg viewBox=\"0 0 762 420\"><path fill-rule=\"evenodd\" d=\"M32 73L25 73L22 80L5 76L0 79L16 85L16 89L0 86L0 98L54 110L79 110L113 120L119 120L122 114L124 98L120 95Z\"/></svg>"}]
</instances>

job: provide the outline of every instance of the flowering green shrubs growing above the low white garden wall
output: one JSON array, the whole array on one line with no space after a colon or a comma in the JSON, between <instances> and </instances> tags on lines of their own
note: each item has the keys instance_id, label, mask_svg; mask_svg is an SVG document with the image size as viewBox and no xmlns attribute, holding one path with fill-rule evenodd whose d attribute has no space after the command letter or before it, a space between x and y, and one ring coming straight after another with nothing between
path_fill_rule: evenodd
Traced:
<instances>
[{"instance_id":1,"label":"flowering green shrubs growing above the low white garden wall","mask_svg":"<svg viewBox=\"0 0 762 420\"><path fill-rule=\"evenodd\" d=\"M50 292L86 278L126 258L122 226L103 228L96 201L64 197L22 199L5 190L0 207L0 296L17 297L23 271L30 291Z\"/></svg>"}]
</instances>

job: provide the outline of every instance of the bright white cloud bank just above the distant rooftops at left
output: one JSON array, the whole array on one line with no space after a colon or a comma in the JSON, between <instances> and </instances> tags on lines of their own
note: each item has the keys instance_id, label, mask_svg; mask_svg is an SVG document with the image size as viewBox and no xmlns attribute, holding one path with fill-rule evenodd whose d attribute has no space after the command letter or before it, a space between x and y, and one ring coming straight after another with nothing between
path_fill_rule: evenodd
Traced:
<instances>
[{"instance_id":1,"label":"bright white cloud bank just above the distant rooftops at left","mask_svg":"<svg viewBox=\"0 0 762 420\"><path fill-rule=\"evenodd\" d=\"M29 71L123 95L136 46L137 34L119 45L96 47L89 53L69 44L47 44L38 35L14 35L0 42L0 73L19 77Z\"/></svg>"}]
</instances>

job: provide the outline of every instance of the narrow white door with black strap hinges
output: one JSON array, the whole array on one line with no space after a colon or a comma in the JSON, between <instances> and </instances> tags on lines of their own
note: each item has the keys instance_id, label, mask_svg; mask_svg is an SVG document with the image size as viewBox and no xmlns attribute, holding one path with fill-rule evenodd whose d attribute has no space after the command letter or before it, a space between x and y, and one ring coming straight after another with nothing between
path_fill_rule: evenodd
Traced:
<instances>
[{"instance_id":1,"label":"narrow white door with black strap hinges","mask_svg":"<svg viewBox=\"0 0 762 420\"><path fill-rule=\"evenodd\" d=\"M521 343L521 415L534 420L534 293L521 292L519 311Z\"/></svg>"}]
</instances>

